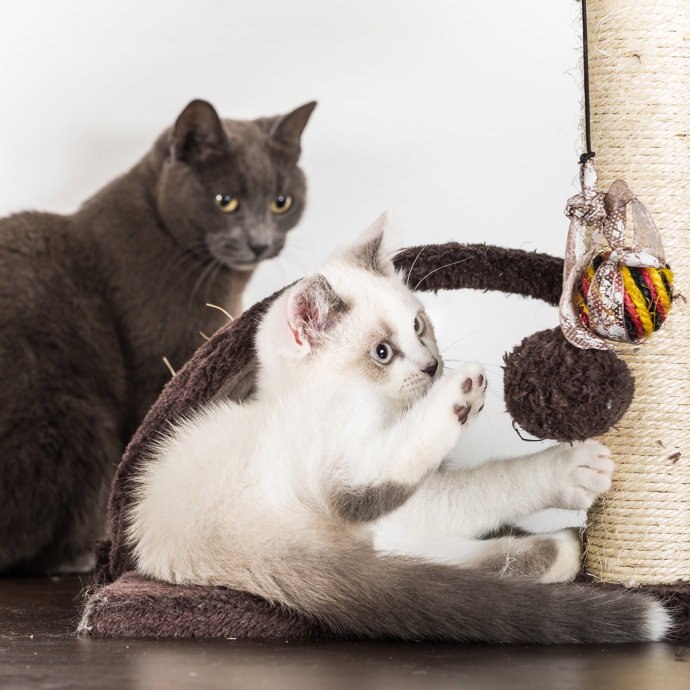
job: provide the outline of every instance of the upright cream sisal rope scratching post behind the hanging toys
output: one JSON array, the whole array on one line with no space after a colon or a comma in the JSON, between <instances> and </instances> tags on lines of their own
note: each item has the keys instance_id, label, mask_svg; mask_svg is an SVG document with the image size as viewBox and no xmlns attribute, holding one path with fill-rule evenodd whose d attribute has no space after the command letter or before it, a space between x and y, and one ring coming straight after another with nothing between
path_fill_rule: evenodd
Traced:
<instances>
[{"instance_id":1,"label":"upright cream sisal rope scratching post behind the hanging toys","mask_svg":"<svg viewBox=\"0 0 690 690\"><path fill-rule=\"evenodd\" d=\"M611 491L589 513L586 571L607 582L690 580L690 4L589 0L593 150L600 189L624 179L676 275L664 327L618 346L633 403L609 435Z\"/></svg>"}]
</instances>

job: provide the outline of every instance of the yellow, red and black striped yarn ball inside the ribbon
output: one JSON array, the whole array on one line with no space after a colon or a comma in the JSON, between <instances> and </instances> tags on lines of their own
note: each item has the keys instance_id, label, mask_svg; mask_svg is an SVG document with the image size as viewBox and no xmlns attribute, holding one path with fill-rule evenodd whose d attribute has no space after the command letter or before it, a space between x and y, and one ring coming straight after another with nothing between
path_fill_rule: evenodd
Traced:
<instances>
[{"instance_id":1,"label":"yellow, red and black striped yarn ball inside the ribbon","mask_svg":"<svg viewBox=\"0 0 690 690\"><path fill-rule=\"evenodd\" d=\"M595 255L582 273L577 304L580 321L592 331L587 308L587 293L596 270L609 258L609 253ZM673 301L673 273L665 268L620 267L624 290L625 330L633 343L640 343L661 328Z\"/></svg>"}]
</instances>

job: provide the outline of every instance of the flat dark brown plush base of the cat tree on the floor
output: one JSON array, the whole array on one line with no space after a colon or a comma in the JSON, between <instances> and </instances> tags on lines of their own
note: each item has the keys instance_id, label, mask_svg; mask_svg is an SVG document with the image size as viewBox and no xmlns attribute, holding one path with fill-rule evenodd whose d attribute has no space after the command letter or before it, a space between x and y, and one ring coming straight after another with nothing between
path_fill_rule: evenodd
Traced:
<instances>
[{"instance_id":1,"label":"flat dark brown plush base of the cat tree on the floor","mask_svg":"<svg viewBox=\"0 0 690 690\"><path fill-rule=\"evenodd\" d=\"M585 581L573 586L607 587ZM544 585L549 586L549 585ZM673 614L669 639L690 642L690 582L645 584ZM341 638L333 631L253 594L215 586L167 584L128 571L88 598L79 632L135 638Z\"/></svg>"}]
</instances>

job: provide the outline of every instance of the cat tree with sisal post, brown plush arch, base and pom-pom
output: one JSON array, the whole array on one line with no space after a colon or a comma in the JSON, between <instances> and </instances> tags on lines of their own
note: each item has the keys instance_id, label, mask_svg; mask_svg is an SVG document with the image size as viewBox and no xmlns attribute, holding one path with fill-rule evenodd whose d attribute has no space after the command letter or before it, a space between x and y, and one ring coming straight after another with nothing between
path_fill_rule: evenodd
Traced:
<instances>
[{"instance_id":1,"label":"cat tree with sisal post, brown plush arch, base and pom-pom","mask_svg":"<svg viewBox=\"0 0 690 690\"><path fill-rule=\"evenodd\" d=\"M662 231L676 289L690 298L690 12L687 0L590 0L592 123L600 186L626 179ZM684 40L687 39L687 40ZM687 208L686 208L687 207ZM629 224L631 226L631 224ZM420 290L502 290L558 304L563 261L522 250L448 243L395 257ZM177 372L132 438L110 494L108 538L97 546L95 586L79 631L86 635L328 637L318 620L223 587L148 580L135 570L125 535L135 477L152 440L170 422L217 397L242 399L254 380L253 337L276 295L221 328ZM589 515L586 581L647 583L673 611L673 635L690 640L690 305L678 299L664 328L643 346L572 346L560 329L524 339L506 356L506 405L535 435L602 440L618 469ZM623 370L623 371L622 371ZM554 404L557 403L557 404ZM565 404L564 404L565 403ZM618 421L620 420L620 421ZM664 582L680 584L662 584Z\"/></svg>"}]
</instances>

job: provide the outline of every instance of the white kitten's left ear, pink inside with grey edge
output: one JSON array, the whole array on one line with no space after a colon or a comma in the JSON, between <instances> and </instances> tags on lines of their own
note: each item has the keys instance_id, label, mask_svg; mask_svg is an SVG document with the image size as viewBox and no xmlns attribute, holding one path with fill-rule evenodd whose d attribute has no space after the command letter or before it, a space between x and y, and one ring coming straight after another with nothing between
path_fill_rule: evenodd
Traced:
<instances>
[{"instance_id":1,"label":"white kitten's left ear, pink inside with grey edge","mask_svg":"<svg viewBox=\"0 0 690 690\"><path fill-rule=\"evenodd\" d=\"M348 306L322 275L300 281L288 296L288 327L297 346L313 346L335 326ZM306 348L308 349L308 348Z\"/></svg>"}]
</instances>

